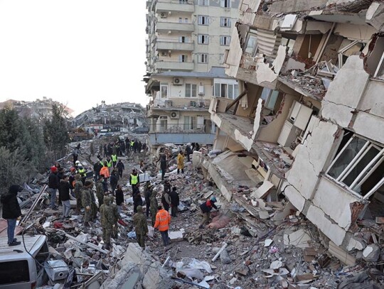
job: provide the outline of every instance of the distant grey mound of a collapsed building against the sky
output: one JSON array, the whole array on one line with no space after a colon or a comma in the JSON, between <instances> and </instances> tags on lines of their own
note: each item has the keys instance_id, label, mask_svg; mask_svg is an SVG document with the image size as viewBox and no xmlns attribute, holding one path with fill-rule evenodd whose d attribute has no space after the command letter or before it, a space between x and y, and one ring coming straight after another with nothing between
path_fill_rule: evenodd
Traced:
<instances>
[{"instance_id":1,"label":"distant grey mound of a collapsed building against the sky","mask_svg":"<svg viewBox=\"0 0 384 289\"><path fill-rule=\"evenodd\" d=\"M95 126L97 125L97 126ZM146 126L146 112L141 104L122 102L117 104L102 104L73 119L73 126L102 129L103 126L134 129Z\"/></svg>"}]
</instances>

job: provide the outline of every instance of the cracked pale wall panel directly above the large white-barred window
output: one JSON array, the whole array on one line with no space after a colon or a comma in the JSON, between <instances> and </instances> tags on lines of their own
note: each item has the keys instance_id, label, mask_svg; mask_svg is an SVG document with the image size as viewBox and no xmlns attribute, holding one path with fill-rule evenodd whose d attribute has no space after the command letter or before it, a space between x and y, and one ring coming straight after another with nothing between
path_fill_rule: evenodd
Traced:
<instances>
[{"instance_id":1,"label":"cracked pale wall panel directly above the large white-barred window","mask_svg":"<svg viewBox=\"0 0 384 289\"><path fill-rule=\"evenodd\" d=\"M341 127L348 127L368 84L369 75L363 60L356 55L348 58L323 99L321 115Z\"/></svg>"}]
</instances>

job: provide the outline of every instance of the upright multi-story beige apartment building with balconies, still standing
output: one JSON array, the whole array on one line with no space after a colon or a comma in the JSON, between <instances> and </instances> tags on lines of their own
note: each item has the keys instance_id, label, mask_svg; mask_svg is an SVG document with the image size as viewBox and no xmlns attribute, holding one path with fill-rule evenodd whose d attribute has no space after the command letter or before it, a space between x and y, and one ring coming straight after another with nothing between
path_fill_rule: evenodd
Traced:
<instances>
[{"instance_id":1,"label":"upright multi-story beige apartment building with balconies, still standing","mask_svg":"<svg viewBox=\"0 0 384 289\"><path fill-rule=\"evenodd\" d=\"M207 143L215 138L213 95L234 99L238 82L223 59L240 0L146 1L149 143Z\"/></svg>"}]
</instances>

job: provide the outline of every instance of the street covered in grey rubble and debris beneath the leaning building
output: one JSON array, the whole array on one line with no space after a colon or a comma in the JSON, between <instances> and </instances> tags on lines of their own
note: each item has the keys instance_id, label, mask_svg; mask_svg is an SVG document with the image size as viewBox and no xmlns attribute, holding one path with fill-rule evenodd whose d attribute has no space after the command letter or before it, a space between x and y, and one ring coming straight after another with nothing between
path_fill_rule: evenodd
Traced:
<instances>
[{"instance_id":1,"label":"street covered in grey rubble and debris beneath the leaning building","mask_svg":"<svg viewBox=\"0 0 384 289\"><path fill-rule=\"evenodd\" d=\"M145 136L134 137L145 141ZM99 142L81 142L79 160L89 171L97 156L90 156L90 143L98 147ZM173 145L167 148L173 155L180 149ZM194 160L199 154L208 156L208 148L203 146L200 151L194 153ZM175 159L169 161L169 173L166 173L166 180L177 188L180 196L179 212L171 219L169 229L171 244L163 246L159 231L151 227L149 216L149 234L143 251L134 236L132 190L127 186L127 179L132 168L140 169L140 162L144 160L142 173L145 168L145 173L151 176L153 189L159 192L159 203L164 182L148 153L129 153L119 159L125 165L119 180L124 190L124 209L118 237L112 239L110 250L103 246L100 217L91 227L85 227L82 214L75 215L71 210L70 218L63 219L61 207L58 211L47 208L47 175L36 175L31 183L24 185L25 190L19 195L24 217L17 232L20 234L22 227L26 227L24 236L46 235L50 266L63 273L63 278L51 278L43 288L383 286L382 224L359 224L362 242L371 245L361 256L346 254L346 262L342 263L334 255L343 252L333 250L331 242L326 244L318 229L284 198L267 202L255 197L252 192L255 189L233 185L234 201L228 203L192 162L186 163L184 174L177 174ZM60 164L69 170L72 158L60 160ZM143 190L144 183L140 187ZM210 224L199 229L202 218L199 205L211 196L217 197L219 209L212 212ZM74 209L75 198L70 203ZM350 262L348 258L356 258L356 264L346 265Z\"/></svg>"}]
</instances>

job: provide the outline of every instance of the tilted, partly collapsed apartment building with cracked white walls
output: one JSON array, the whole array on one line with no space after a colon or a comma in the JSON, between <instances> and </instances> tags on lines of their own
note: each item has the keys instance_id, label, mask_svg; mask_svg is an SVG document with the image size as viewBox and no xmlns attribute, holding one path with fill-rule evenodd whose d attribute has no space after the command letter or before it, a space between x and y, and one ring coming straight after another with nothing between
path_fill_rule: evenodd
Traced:
<instances>
[{"instance_id":1,"label":"tilted, partly collapsed apartment building with cracked white walls","mask_svg":"<svg viewBox=\"0 0 384 289\"><path fill-rule=\"evenodd\" d=\"M210 103L214 149L225 153L200 161L228 201L234 185L284 194L349 263L366 246L358 219L384 216L383 10L242 0L224 60L239 96Z\"/></svg>"}]
</instances>

